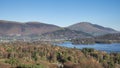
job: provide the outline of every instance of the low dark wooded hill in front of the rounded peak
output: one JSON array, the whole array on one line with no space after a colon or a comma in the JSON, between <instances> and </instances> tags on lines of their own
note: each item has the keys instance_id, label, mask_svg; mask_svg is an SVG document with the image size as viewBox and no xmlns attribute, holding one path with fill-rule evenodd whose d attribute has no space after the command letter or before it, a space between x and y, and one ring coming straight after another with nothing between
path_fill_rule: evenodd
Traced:
<instances>
[{"instance_id":1,"label":"low dark wooded hill in front of the rounded peak","mask_svg":"<svg viewBox=\"0 0 120 68\"><path fill-rule=\"evenodd\" d=\"M67 39L75 39L75 38L86 38L86 37L92 37L92 36L82 31L75 31L67 28L61 28L60 30L56 30L54 32L48 32L48 33L42 34L42 37L46 39L67 40Z\"/></svg>"}]
</instances>

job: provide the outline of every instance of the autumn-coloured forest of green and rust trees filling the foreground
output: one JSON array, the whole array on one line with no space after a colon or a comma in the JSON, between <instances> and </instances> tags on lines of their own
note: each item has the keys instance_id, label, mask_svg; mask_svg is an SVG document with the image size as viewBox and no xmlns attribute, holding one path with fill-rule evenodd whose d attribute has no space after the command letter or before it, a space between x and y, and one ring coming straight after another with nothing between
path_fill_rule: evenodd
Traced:
<instances>
[{"instance_id":1,"label":"autumn-coloured forest of green and rust trees filling the foreground","mask_svg":"<svg viewBox=\"0 0 120 68\"><path fill-rule=\"evenodd\" d=\"M0 43L0 68L120 68L120 54L40 41Z\"/></svg>"}]
</instances>

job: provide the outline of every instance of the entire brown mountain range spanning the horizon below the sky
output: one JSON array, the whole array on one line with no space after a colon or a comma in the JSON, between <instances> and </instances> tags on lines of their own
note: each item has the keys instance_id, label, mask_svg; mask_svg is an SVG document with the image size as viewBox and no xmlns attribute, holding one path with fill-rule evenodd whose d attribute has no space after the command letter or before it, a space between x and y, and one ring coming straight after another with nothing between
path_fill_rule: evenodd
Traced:
<instances>
[{"instance_id":1,"label":"entire brown mountain range spanning the horizon below the sky","mask_svg":"<svg viewBox=\"0 0 120 68\"><path fill-rule=\"evenodd\" d=\"M40 35L46 39L71 39L100 36L118 31L89 22L80 22L68 27L60 27L41 22L15 22L0 20L0 36Z\"/></svg>"}]
</instances>

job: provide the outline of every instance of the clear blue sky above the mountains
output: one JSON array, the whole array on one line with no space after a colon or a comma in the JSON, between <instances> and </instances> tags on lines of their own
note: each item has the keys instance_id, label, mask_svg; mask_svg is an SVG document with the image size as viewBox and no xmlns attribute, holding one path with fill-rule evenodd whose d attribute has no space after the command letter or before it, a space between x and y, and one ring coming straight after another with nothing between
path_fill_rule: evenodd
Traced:
<instances>
[{"instance_id":1,"label":"clear blue sky above the mountains","mask_svg":"<svg viewBox=\"0 0 120 68\"><path fill-rule=\"evenodd\" d=\"M0 0L0 20L61 27L90 22L120 31L120 0Z\"/></svg>"}]
</instances>

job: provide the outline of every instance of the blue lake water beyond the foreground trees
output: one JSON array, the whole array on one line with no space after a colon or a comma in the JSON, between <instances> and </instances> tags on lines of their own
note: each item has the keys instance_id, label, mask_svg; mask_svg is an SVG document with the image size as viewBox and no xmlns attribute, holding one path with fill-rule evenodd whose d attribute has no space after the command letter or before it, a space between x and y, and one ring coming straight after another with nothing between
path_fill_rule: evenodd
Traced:
<instances>
[{"instance_id":1,"label":"blue lake water beyond the foreground trees","mask_svg":"<svg viewBox=\"0 0 120 68\"><path fill-rule=\"evenodd\" d=\"M68 48L78 48L78 49L82 49L82 48L94 48L96 50L100 50L100 51L106 51L108 53L111 52L119 52L120 53L120 43L113 43L113 44L91 44L91 45L73 45L71 42L64 42L64 43L60 43L57 44L59 46L63 46L63 47L68 47Z\"/></svg>"}]
</instances>

